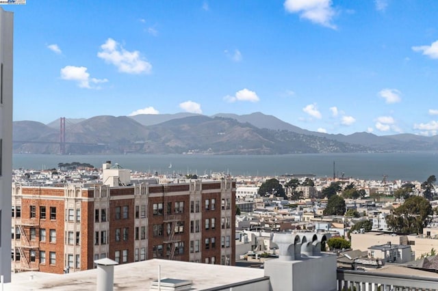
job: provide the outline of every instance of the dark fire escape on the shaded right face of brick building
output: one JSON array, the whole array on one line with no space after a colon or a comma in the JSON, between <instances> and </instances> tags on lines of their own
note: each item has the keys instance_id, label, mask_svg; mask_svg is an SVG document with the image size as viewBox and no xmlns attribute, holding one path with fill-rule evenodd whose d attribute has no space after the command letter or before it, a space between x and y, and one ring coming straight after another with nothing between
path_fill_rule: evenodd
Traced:
<instances>
[{"instance_id":1,"label":"dark fire escape on the shaded right face of brick building","mask_svg":"<svg viewBox=\"0 0 438 291\"><path fill-rule=\"evenodd\" d=\"M168 253L168 259L174 260L175 253L177 251L177 246L181 241L181 236L179 236L179 221L181 221L181 215L173 214L172 212L172 202L168 202L168 189L167 185L163 185L163 196L164 196L164 225L166 226L166 235L163 243L170 246L170 251ZM177 209L175 209L175 212ZM177 234L178 233L178 234Z\"/></svg>"}]
</instances>

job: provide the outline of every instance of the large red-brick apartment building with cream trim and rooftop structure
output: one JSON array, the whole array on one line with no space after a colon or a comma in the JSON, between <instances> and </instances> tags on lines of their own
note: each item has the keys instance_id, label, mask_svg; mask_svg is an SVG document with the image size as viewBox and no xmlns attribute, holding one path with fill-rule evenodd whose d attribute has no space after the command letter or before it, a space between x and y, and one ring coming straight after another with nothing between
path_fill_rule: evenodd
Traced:
<instances>
[{"instance_id":1,"label":"large red-brick apartment building with cream trim and rooftop structure","mask_svg":"<svg viewBox=\"0 0 438 291\"><path fill-rule=\"evenodd\" d=\"M131 182L103 165L103 183L12 184L12 269L64 273L110 258L235 264L235 181Z\"/></svg>"}]
</instances>

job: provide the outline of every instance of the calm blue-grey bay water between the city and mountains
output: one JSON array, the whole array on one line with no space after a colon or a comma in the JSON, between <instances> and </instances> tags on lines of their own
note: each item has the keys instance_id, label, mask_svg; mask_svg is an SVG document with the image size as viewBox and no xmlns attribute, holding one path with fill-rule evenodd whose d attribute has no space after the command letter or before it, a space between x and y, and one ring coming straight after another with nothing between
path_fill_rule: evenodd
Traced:
<instances>
[{"instance_id":1,"label":"calm blue-grey bay water between the city and mountains","mask_svg":"<svg viewBox=\"0 0 438 291\"><path fill-rule=\"evenodd\" d=\"M216 156L201 154L51 155L14 154L14 169L52 169L58 163L90 163L101 168L105 161L133 171L159 174L211 174L280 176L314 174L318 177L353 177L365 180L425 181L438 175L438 153L285 154ZM334 164L334 165L333 165ZM334 167L333 167L334 166Z\"/></svg>"}]
</instances>

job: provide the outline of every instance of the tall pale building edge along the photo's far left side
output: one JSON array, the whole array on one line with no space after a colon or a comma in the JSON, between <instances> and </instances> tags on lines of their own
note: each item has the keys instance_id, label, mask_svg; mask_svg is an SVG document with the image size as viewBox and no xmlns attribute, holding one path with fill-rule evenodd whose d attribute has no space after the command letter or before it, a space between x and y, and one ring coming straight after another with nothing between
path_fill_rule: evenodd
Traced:
<instances>
[{"instance_id":1,"label":"tall pale building edge along the photo's far left side","mask_svg":"<svg viewBox=\"0 0 438 291\"><path fill-rule=\"evenodd\" d=\"M12 67L14 14L0 8L0 275L11 281Z\"/></svg>"}]
</instances>

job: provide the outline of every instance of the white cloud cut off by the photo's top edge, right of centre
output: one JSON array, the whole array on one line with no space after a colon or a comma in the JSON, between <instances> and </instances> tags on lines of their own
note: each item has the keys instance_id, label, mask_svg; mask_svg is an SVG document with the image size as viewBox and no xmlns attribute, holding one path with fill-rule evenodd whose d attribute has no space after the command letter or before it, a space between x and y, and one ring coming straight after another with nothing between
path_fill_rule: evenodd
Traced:
<instances>
[{"instance_id":1,"label":"white cloud cut off by the photo's top edge, right of centre","mask_svg":"<svg viewBox=\"0 0 438 291\"><path fill-rule=\"evenodd\" d=\"M300 18L305 18L313 23L335 29L332 18L335 10L331 0L286 0L285 10L290 13L299 13Z\"/></svg>"}]
</instances>

